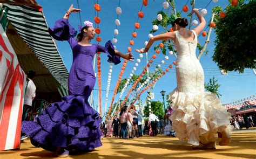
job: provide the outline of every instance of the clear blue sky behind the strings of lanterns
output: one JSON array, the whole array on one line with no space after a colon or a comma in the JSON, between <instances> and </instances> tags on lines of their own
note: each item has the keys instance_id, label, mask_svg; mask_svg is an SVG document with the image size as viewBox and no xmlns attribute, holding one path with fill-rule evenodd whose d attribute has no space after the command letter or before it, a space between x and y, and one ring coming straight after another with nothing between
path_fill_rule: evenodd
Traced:
<instances>
[{"instance_id":1,"label":"clear blue sky behind the strings of lanterns","mask_svg":"<svg viewBox=\"0 0 256 159\"><path fill-rule=\"evenodd\" d=\"M49 27L53 27L56 20L62 18L66 12L66 10L69 9L69 6L71 4L74 4L74 6L77 8L77 0L37 0L38 4L42 5L44 16L46 18L46 22L48 23ZM79 6L81 11L81 18L82 22L85 20L90 20L94 23L94 17L95 17L95 10L93 8L93 5L95 1L93 0L79 0ZM97 1L96 1L97 2ZM164 0L149 0L149 4L147 6L144 6L142 11L144 12L144 18L139 19L140 23L140 29L136 30L138 37L133 39L134 45L132 46L132 53L134 55L135 60L139 58L139 53L135 52L135 49L141 49L144 47L144 43L146 40L148 40L148 34L152 29L152 20L157 18L157 12L161 11L163 9L162 3ZM183 6L186 4L187 0L179 0L176 1L176 10L181 11ZM209 3L209 0L197 0L195 8L202 8L204 9L206 5ZM98 16L101 19L101 22L99 24L99 28L102 31L100 33L100 37L102 38L102 42L100 42L100 45L105 45L107 40L112 40L114 37L113 30L116 29L116 24L114 23L114 20L117 18L116 13L116 7L118 6L119 1L118 0L104 0L104 1L98 1L98 4L101 6L101 11L98 12ZM220 5L223 8L225 8L228 5L228 0L219 0L217 3L213 3L211 0L211 3L207 6L207 15L205 16L206 22L208 22L211 18L211 9L216 6ZM188 6L191 10L191 6L188 3ZM134 23L137 21L138 18L138 12L140 11L140 8L142 7L142 1L140 0L121 0L120 1L120 8L122 8L122 15L119 16L119 20L121 25L117 27L119 30L119 34L116 37L118 39L118 43L116 44L117 50L126 53L127 47L129 46L129 41L131 40L131 34L134 30ZM171 10L164 9L165 12L171 12ZM187 17L187 13L181 13L181 16ZM193 17L193 20L196 19ZM77 29L79 25L79 18L78 14L71 13L71 16L69 18L70 24ZM192 27L193 29L193 27ZM154 35L159 34L161 31L160 27L159 30ZM210 78L215 77L215 79L218 80L218 84L220 84L219 93L222 95L220 97L221 101L223 103L230 103L233 101L237 101L240 99L244 99L248 96L254 95L256 91L255 87L255 75L253 73L253 70L246 69L245 73L239 74L238 72L228 72L228 75L220 75L220 71L218 69L218 66L214 61L212 60L212 55L214 53L214 39L215 39L215 33L214 31L211 34L210 38L210 44L207 46L208 54L207 56L203 56L200 59L200 63L204 68L205 72L205 82L209 82ZM199 43L201 45L204 45L206 37L200 36L198 38ZM92 40L91 43L96 43L95 40ZM149 58L152 56L154 50L153 46L159 44L160 42L155 42L151 49L149 50ZM57 47L59 50L60 55L62 56L62 59L64 61L64 64L68 68L68 71L70 71L70 67L72 65L72 51L70 49L70 46L68 42L57 42ZM235 52L234 52L235 53ZM198 54L198 51L197 51ZM106 89L107 84L107 73L109 72L109 63L107 63L107 57L102 53L102 89ZM172 61L174 61L176 58L174 56L169 56L168 63L171 64ZM154 60L158 63L160 63L161 60L164 60L163 54L158 54L157 59ZM122 60L123 63L123 60ZM107 106L109 107L110 102L112 100L113 95L113 89L116 87L116 83L118 80L118 75L120 73L120 68L122 67L122 63L119 65L113 66L113 73L112 73L112 79L111 79L111 86L110 86L110 93L109 93L109 100L107 101ZM123 78L128 78L131 71L133 70L134 62L128 62L127 67L125 70L125 73L123 75ZM145 54L144 58L142 59L142 62L139 64L137 71L135 71L135 74L139 74L142 72L143 67L146 66L146 59ZM163 67L165 68L165 67ZM173 69L173 68L172 68ZM154 71L150 69L150 71ZM172 92L174 88L176 88L176 73L174 70L167 73L163 78L160 78L158 80L156 87L153 89L154 93L154 100L163 101L163 97L160 94L160 91L164 90L167 93ZM131 86L130 86L131 87ZM127 87L129 90L130 87ZM98 84L96 81L95 89L98 89ZM126 90L127 90L126 89ZM93 99L95 101L98 101L98 91L94 91ZM123 94L123 98L125 98L127 91ZM104 112L104 106L105 106L105 95L106 92L102 91L102 109ZM119 94L116 95L115 101L118 100ZM146 99L146 92L142 95L142 102L144 102ZM97 103L95 103L97 105Z\"/></svg>"}]
</instances>

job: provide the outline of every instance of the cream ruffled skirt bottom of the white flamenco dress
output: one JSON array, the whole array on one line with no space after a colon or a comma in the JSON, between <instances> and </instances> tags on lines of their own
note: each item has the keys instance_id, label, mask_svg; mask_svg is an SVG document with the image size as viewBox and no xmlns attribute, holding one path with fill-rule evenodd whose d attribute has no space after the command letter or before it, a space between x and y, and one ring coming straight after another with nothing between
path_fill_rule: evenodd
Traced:
<instances>
[{"instance_id":1,"label":"cream ruffled skirt bottom of the white flamenco dress","mask_svg":"<svg viewBox=\"0 0 256 159\"><path fill-rule=\"evenodd\" d=\"M212 93L185 93L174 89L170 93L174 111L170 116L179 140L198 146L199 142L215 142L217 132L227 127L230 132L230 113Z\"/></svg>"}]
</instances>

